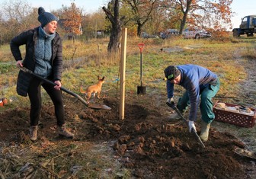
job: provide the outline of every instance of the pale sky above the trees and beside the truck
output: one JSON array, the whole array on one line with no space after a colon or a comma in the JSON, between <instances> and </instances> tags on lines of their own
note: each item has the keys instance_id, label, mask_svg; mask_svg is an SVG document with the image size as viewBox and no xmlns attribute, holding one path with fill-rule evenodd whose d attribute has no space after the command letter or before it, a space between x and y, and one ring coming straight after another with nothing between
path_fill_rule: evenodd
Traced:
<instances>
[{"instance_id":1,"label":"pale sky above the trees and beside the truck","mask_svg":"<svg viewBox=\"0 0 256 179\"><path fill-rule=\"evenodd\" d=\"M2 0L1 0L2 1ZM52 11L55 9L62 8L62 5L69 6L71 0L27 0L33 7L42 6L46 11ZM91 13L98 11L103 6L107 6L109 0L75 0L75 5L78 8L82 8L85 13ZM239 27L241 23L241 18L246 15L256 14L256 0L233 0L232 11L235 12L234 17L232 17L232 28Z\"/></svg>"}]
</instances>

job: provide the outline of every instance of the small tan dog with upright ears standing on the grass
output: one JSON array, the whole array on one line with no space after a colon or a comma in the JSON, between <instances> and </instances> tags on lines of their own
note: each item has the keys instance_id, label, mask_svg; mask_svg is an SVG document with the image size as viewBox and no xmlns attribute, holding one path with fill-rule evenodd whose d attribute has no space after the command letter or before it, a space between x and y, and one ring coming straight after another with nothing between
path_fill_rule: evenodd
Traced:
<instances>
[{"instance_id":1,"label":"small tan dog with upright ears standing on the grass","mask_svg":"<svg viewBox=\"0 0 256 179\"><path fill-rule=\"evenodd\" d=\"M95 96L95 94L97 93L97 97L98 99L101 98L101 87L102 84L104 83L104 78L100 78L100 76L98 76L98 83L96 85L91 85L89 86L85 91L82 90L82 86L80 87L80 92L82 94L85 94L87 96L87 102L89 103L89 100L91 98L91 94L93 94L93 96Z\"/></svg>"}]
</instances>

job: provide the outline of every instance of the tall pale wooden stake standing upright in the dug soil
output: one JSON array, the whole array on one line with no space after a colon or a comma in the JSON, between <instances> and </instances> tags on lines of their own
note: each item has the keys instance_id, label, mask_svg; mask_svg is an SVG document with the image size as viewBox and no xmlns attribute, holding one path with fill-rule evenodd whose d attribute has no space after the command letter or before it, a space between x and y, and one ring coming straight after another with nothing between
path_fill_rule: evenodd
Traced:
<instances>
[{"instance_id":1,"label":"tall pale wooden stake standing upright in the dug soil","mask_svg":"<svg viewBox=\"0 0 256 179\"><path fill-rule=\"evenodd\" d=\"M120 66L120 107L119 119L124 119L124 100L125 100L125 71L126 71L126 40L127 28L122 29L121 42L121 66Z\"/></svg>"}]
</instances>

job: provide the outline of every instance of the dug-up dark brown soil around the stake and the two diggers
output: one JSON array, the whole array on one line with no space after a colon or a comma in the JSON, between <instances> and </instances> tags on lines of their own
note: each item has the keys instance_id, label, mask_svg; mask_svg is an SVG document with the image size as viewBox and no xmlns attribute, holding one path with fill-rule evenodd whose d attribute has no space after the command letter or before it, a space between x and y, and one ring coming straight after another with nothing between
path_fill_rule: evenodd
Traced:
<instances>
[{"instance_id":1,"label":"dug-up dark brown soil around the stake and the two diggers","mask_svg":"<svg viewBox=\"0 0 256 179\"><path fill-rule=\"evenodd\" d=\"M104 104L112 110L85 107L64 96L66 123L75 133L75 141L112 141L124 168L138 178L252 178L255 163L235 154L245 144L230 133L210 129L210 140L203 148L183 121L168 120L168 107L133 104L127 99L125 119L118 119L117 99L108 97ZM142 101L150 101L144 96ZM164 104L164 102L163 102ZM0 118L0 139L5 145L24 143L28 133L29 108L5 110ZM51 102L43 106L38 138L56 139L56 119ZM200 122L197 123L200 133ZM31 144L33 145L33 144Z\"/></svg>"}]
</instances>

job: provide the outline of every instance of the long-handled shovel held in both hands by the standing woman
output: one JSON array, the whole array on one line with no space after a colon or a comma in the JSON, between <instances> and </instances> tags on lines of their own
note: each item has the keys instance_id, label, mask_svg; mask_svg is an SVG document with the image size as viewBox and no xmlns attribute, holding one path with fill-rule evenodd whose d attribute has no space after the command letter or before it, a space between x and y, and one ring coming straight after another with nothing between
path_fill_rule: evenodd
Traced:
<instances>
[{"instance_id":1,"label":"long-handled shovel held in both hands by the standing woman","mask_svg":"<svg viewBox=\"0 0 256 179\"><path fill-rule=\"evenodd\" d=\"M55 86L56 83L46 79L46 78L43 78L42 76L40 75L37 75L35 74L34 72L32 72L31 70L29 69L26 69L24 67L21 67L21 70L23 72L27 72L29 73L30 75L33 75L34 77L36 78L40 78L41 80L43 80L43 82L46 82L46 83L49 83L50 85L53 85ZM75 94L74 92L72 91L69 91L68 89L64 88L64 87L60 87L60 90L62 91L65 91L66 93L68 94L71 94L73 97L76 97L79 101L82 102L82 104L85 104L85 106L87 106L88 108L92 108L92 109L97 109L97 110L111 110L111 107L108 107L107 105L104 105L104 104L90 104L88 102L86 102L81 96L79 96L78 94Z\"/></svg>"}]
</instances>

